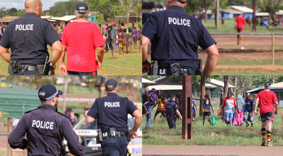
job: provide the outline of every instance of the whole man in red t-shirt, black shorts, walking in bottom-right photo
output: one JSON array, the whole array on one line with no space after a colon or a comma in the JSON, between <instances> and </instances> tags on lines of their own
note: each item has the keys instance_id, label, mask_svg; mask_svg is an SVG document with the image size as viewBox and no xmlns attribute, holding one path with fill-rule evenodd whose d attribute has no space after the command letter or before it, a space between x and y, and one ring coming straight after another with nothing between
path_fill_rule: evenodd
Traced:
<instances>
[{"instance_id":1,"label":"whole man in red t-shirt, black shorts, walking in bottom-right photo","mask_svg":"<svg viewBox=\"0 0 283 156\"><path fill-rule=\"evenodd\" d=\"M273 91L270 91L271 83L266 82L264 85L264 91L260 91L257 95L257 99L254 104L254 114L257 115L257 104L260 101L260 118L261 118L261 135L262 143L261 146L265 146L265 135L267 133L267 146L272 146L270 143L271 139L271 126L273 122L274 113L278 115L278 100ZM275 103L275 112L274 112ZM267 127L267 131L266 131Z\"/></svg>"}]
</instances>

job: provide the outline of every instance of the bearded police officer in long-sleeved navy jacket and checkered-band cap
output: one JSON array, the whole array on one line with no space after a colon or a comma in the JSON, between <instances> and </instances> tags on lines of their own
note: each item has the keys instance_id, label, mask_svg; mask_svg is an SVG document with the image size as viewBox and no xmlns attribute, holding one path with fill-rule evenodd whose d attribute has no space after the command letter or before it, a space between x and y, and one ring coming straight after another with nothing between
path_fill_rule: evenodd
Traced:
<instances>
[{"instance_id":1,"label":"bearded police officer in long-sleeved navy jacket and checkered-band cap","mask_svg":"<svg viewBox=\"0 0 283 156\"><path fill-rule=\"evenodd\" d=\"M59 113L58 97L63 92L54 85L43 85L38 91L42 105L37 110L26 112L18 125L9 134L11 148L27 149L27 155L64 155L63 136L73 155L84 156L85 152L79 143L68 116ZM24 139L26 134L26 139Z\"/></svg>"}]
</instances>

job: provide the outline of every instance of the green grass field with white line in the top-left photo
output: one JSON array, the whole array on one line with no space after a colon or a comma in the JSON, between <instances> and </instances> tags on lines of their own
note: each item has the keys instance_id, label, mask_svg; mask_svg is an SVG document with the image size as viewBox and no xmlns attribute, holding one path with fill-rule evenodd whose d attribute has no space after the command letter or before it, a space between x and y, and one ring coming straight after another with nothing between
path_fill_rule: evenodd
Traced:
<instances>
[{"instance_id":1,"label":"green grass field with white line in the top-left photo","mask_svg":"<svg viewBox=\"0 0 283 156\"><path fill-rule=\"evenodd\" d=\"M137 26L138 24L142 23L135 23ZM126 28L130 27L132 25L126 25ZM122 53L122 55L119 55L119 49L117 48L117 52L114 52L114 60L112 60L111 51L108 51L104 54L103 62L101 68L97 70L98 75L140 75L142 68L141 60L142 60L142 53L138 52L139 47L139 41L137 42L137 46L135 49L133 49L132 45L132 53L126 54L126 48L124 48L125 53ZM48 52L50 54L50 58L52 56L51 47L48 45ZM141 50L142 52L142 47ZM11 49L9 49L9 52L11 52ZM98 59L96 54L96 59ZM4 61L2 57L0 57L0 61L3 63L0 63L0 75L9 75L7 73L8 71L8 63ZM67 52L65 56L65 64L67 62ZM56 63L56 69L55 69L55 75L62 75L59 72L59 60Z\"/></svg>"}]
</instances>

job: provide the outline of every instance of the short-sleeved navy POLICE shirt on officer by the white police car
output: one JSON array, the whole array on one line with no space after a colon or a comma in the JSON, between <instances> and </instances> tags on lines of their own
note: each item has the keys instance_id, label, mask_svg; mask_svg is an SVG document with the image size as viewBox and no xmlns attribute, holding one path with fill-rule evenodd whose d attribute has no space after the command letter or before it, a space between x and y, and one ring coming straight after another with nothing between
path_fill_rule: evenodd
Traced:
<instances>
[{"instance_id":1,"label":"short-sleeved navy POLICE shirt on officer by the white police car","mask_svg":"<svg viewBox=\"0 0 283 156\"><path fill-rule=\"evenodd\" d=\"M127 98L118 96L116 93L108 93L106 97L98 98L87 113L92 118L97 118L97 127L102 132L109 128L116 131L127 132L128 114L133 114L138 108Z\"/></svg>"}]
</instances>

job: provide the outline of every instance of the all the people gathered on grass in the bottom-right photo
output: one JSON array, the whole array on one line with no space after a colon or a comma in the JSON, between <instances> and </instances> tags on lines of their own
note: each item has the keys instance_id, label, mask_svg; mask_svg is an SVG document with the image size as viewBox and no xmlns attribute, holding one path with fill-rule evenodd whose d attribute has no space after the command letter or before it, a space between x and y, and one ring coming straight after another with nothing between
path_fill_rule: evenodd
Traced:
<instances>
[{"instance_id":1,"label":"all the people gathered on grass in the bottom-right photo","mask_svg":"<svg viewBox=\"0 0 283 156\"><path fill-rule=\"evenodd\" d=\"M250 97L250 93L247 92L245 94L245 100L241 95L234 95L232 97L232 93L228 92L227 97L224 99L220 98L220 106L218 110L218 116L221 115L221 119L224 118L225 124L227 126L242 126L243 122L246 122L246 127L249 127L251 123L251 127L253 127L253 122L255 119L255 115L259 109L257 108L260 101L260 121L262 124L261 134L262 134L262 143L261 146L266 146L266 135L267 135L267 146L271 145L271 126L273 122L274 114L278 115L278 100L273 91L270 91L271 83L265 83L265 90L260 91L257 95L256 100ZM145 88L145 93L142 95L142 104L143 104L143 114L147 117L147 123L145 125L145 130L151 129L151 115L152 109L157 106L156 113L154 115L154 121L156 116L161 113L162 116L166 117L169 129L176 129L176 121L177 119L182 121L182 94L176 94L170 96L169 94L164 94L162 90L160 90L163 94L156 95L155 88L151 89L151 93L149 93L149 88ZM222 95L221 95L222 97ZM211 112L214 113L213 107L210 104L209 95L206 93L203 99L193 98L192 100L192 116L193 121L196 115L196 103L195 100L203 101L203 125L205 121L205 117L209 117L210 125L213 125L211 119ZM152 107L153 106L153 107ZM276 110L274 111L274 106ZM195 107L195 108L194 108ZM211 107L211 109L210 109ZM283 118L282 118L283 119ZM266 131L267 128L267 131Z\"/></svg>"}]
</instances>

